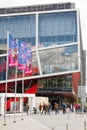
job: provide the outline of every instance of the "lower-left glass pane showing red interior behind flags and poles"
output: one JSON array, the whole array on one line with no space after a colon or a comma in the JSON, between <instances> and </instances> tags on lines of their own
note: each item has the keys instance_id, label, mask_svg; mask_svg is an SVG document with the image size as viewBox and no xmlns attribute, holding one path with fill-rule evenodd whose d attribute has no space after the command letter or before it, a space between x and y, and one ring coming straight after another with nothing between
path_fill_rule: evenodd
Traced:
<instances>
[{"instance_id":1,"label":"lower-left glass pane showing red interior behind flags and poles","mask_svg":"<svg viewBox=\"0 0 87 130\"><path fill-rule=\"evenodd\" d=\"M8 67L8 79L15 79L16 67ZM36 52L32 52L32 72L29 74L24 73L24 77L39 75L39 66L37 62ZM17 67L17 78L23 78L23 70ZM6 56L0 57L0 81L6 80Z\"/></svg>"}]
</instances>

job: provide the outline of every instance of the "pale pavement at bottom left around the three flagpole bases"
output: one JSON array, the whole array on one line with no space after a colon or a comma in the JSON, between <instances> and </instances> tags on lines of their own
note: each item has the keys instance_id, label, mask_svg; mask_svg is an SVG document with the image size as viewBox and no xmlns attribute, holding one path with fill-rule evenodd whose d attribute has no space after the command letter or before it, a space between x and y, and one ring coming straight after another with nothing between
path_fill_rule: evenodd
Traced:
<instances>
[{"instance_id":1,"label":"pale pavement at bottom left around the three flagpole bases","mask_svg":"<svg viewBox=\"0 0 87 130\"><path fill-rule=\"evenodd\" d=\"M0 117L0 130L49 130L45 125L29 115L24 114L24 120L21 120L21 117L21 115L16 115L16 123L14 123L14 116L8 115L6 117L6 126L3 125L4 117Z\"/></svg>"}]
</instances>

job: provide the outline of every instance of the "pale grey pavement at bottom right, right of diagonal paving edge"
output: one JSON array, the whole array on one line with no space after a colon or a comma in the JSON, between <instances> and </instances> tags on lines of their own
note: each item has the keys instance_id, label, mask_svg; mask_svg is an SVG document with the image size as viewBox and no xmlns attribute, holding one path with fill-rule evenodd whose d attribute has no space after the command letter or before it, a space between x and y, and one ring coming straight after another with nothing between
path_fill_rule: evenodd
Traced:
<instances>
[{"instance_id":1,"label":"pale grey pavement at bottom right, right of diagonal paving edge","mask_svg":"<svg viewBox=\"0 0 87 130\"><path fill-rule=\"evenodd\" d=\"M32 115L31 117L50 128L50 130L87 130L84 127L84 123L87 122L87 114L62 114L61 112L58 115Z\"/></svg>"}]
</instances>

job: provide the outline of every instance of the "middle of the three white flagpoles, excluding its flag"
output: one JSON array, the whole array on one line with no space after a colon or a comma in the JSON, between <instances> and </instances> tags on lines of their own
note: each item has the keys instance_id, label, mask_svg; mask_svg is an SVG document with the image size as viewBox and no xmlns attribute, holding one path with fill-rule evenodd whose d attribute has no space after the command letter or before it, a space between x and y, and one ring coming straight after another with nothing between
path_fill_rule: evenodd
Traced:
<instances>
[{"instance_id":1,"label":"middle of the three white flagpoles, excluding its flag","mask_svg":"<svg viewBox=\"0 0 87 130\"><path fill-rule=\"evenodd\" d=\"M16 40L16 43L17 43L17 56L18 56L18 39ZM16 123L16 91L17 91L17 65L15 71L15 110L14 110L14 121L13 121L14 123Z\"/></svg>"}]
</instances>

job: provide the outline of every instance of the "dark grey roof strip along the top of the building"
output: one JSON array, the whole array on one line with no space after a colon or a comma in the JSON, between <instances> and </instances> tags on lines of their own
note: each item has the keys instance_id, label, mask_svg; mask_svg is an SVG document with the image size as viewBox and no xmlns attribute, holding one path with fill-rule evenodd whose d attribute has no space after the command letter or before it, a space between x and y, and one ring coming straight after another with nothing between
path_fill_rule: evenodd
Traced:
<instances>
[{"instance_id":1,"label":"dark grey roof strip along the top of the building","mask_svg":"<svg viewBox=\"0 0 87 130\"><path fill-rule=\"evenodd\" d=\"M6 8L0 8L0 14L14 14L24 12L39 12L39 11L67 10L67 9L75 9L75 3L66 2L66 3L6 7Z\"/></svg>"}]
</instances>

